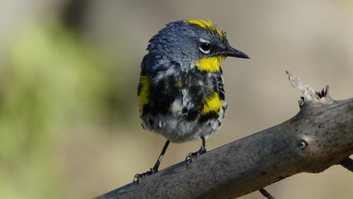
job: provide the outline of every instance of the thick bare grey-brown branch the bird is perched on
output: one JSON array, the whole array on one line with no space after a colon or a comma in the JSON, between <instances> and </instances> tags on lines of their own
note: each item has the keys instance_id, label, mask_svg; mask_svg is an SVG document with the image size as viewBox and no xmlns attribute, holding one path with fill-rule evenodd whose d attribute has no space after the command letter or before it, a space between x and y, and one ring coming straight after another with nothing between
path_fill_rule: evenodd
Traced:
<instances>
[{"instance_id":1,"label":"thick bare grey-brown branch the bird is perched on","mask_svg":"<svg viewBox=\"0 0 353 199\"><path fill-rule=\"evenodd\" d=\"M129 183L97 199L237 198L300 172L352 166L353 98L333 100L328 87L317 93L286 72L303 92L293 118L204 153L189 170L183 161L146 177L140 188Z\"/></svg>"}]
</instances>

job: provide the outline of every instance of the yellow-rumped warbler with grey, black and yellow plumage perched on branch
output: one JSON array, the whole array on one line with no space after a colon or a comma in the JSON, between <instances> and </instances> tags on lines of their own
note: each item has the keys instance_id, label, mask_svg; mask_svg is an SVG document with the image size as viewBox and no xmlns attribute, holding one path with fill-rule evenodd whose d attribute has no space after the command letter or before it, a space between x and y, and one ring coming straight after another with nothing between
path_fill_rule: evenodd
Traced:
<instances>
[{"instance_id":1,"label":"yellow-rumped warbler with grey, black and yellow plumage perched on branch","mask_svg":"<svg viewBox=\"0 0 353 199\"><path fill-rule=\"evenodd\" d=\"M222 124L224 100L221 60L249 58L228 44L226 33L211 21L172 22L152 37L142 60L138 84L142 127L167 142L150 171L136 174L137 183L158 171L169 142L202 139L201 149L186 156L187 165L206 152L205 140Z\"/></svg>"}]
</instances>

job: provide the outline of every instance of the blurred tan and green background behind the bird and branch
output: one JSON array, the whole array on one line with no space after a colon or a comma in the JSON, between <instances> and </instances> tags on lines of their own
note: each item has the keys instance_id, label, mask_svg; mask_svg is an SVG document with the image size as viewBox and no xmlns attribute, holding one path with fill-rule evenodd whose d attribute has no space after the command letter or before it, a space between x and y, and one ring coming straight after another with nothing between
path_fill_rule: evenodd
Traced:
<instances>
[{"instance_id":1,"label":"blurred tan and green background behind the bird and branch","mask_svg":"<svg viewBox=\"0 0 353 199\"><path fill-rule=\"evenodd\" d=\"M251 57L222 63L228 109L208 151L299 111L286 70L353 97L353 1L1 0L0 198L94 198L152 167L166 140L140 125L140 62L148 40L183 19L215 22ZM169 145L160 169L200 146ZM266 189L348 199L352 184L333 166Z\"/></svg>"}]
</instances>

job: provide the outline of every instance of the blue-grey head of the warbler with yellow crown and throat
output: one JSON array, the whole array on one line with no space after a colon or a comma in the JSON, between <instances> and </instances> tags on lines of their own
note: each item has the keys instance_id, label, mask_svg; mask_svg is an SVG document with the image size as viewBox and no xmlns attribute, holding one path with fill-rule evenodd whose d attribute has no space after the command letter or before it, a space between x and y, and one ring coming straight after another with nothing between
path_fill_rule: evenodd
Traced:
<instances>
[{"instance_id":1,"label":"blue-grey head of the warbler with yellow crown and throat","mask_svg":"<svg viewBox=\"0 0 353 199\"><path fill-rule=\"evenodd\" d=\"M197 67L217 71L226 57L249 58L232 48L226 33L211 21L185 20L172 22L149 41L147 50L158 59L169 59L183 68Z\"/></svg>"}]
</instances>

